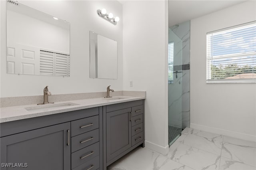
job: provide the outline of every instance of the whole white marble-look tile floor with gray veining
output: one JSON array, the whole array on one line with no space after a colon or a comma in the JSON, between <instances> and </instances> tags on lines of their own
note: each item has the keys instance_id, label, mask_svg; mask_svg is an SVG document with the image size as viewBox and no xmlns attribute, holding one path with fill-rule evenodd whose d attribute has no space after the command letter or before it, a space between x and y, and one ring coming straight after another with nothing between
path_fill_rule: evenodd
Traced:
<instances>
[{"instance_id":1,"label":"whole white marble-look tile floor with gray veining","mask_svg":"<svg viewBox=\"0 0 256 170\"><path fill-rule=\"evenodd\" d=\"M256 142L185 128L166 156L138 147L107 170L256 170L255 162Z\"/></svg>"}]
</instances>

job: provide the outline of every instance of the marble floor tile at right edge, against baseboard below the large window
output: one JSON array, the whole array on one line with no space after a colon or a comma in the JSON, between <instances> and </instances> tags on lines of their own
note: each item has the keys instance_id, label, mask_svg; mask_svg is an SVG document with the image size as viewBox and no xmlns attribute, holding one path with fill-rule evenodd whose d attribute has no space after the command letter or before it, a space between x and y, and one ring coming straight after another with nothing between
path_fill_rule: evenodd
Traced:
<instances>
[{"instance_id":1,"label":"marble floor tile at right edge, against baseboard below the large window","mask_svg":"<svg viewBox=\"0 0 256 170\"><path fill-rule=\"evenodd\" d=\"M256 166L256 143L224 136L221 156Z\"/></svg>"}]
</instances>

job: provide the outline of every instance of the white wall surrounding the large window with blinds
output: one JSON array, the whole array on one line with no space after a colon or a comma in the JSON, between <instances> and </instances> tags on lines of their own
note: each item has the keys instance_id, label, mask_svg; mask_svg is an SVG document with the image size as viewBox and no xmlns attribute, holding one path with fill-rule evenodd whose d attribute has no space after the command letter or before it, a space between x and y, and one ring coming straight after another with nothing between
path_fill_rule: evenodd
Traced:
<instances>
[{"instance_id":1,"label":"white wall surrounding the large window with blinds","mask_svg":"<svg viewBox=\"0 0 256 170\"><path fill-rule=\"evenodd\" d=\"M256 84L206 84L206 33L256 20L256 1L191 20L190 127L255 140Z\"/></svg>"}]
</instances>

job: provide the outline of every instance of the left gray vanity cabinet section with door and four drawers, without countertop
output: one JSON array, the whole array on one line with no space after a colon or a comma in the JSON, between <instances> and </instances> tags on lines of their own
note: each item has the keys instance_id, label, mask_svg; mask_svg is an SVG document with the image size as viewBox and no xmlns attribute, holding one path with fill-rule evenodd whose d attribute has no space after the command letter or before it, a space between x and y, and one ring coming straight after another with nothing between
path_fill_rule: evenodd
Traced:
<instances>
[{"instance_id":1,"label":"left gray vanity cabinet section with door and four drawers, without countertop","mask_svg":"<svg viewBox=\"0 0 256 170\"><path fill-rule=\"evenodd\" d=\"M102 170L100 122L102 107L1 123L0 169Z\"/></svg>"}]
</instances>

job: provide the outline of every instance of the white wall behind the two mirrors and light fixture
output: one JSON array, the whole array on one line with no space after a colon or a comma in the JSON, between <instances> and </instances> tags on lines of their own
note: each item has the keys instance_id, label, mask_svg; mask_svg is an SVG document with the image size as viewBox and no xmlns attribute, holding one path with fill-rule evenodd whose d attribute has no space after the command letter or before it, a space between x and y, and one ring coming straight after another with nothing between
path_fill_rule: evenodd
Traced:
<instances>
[{"instance_id":1,"label":"white wall behind the two mirrors and light fixture","mask_svg":"<svg viewBox=\"0 0 256 170\"><path fill-rule=\"evenodd\" d=\"M62 20L70 22L70 77L42 75L15 75L6 73L6 1L1 0L1 96L42 95L46 85L52 94L87 93L106 91L111 85L115 91L122 90L122 4L118 1L24 1L30 6ZM116 26L100 18L96 12L106 8L120 21ZM89 31L118 42L118 79L89 78Z\"/></svg>"}]
</instances>

